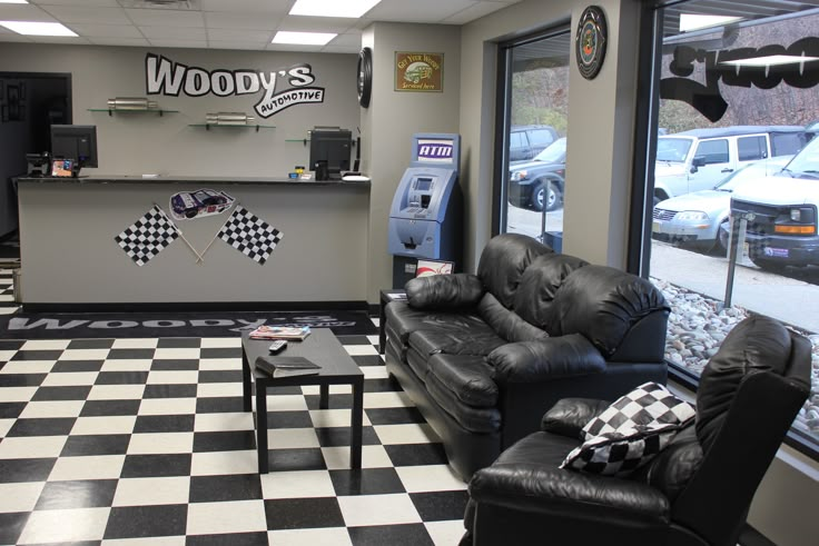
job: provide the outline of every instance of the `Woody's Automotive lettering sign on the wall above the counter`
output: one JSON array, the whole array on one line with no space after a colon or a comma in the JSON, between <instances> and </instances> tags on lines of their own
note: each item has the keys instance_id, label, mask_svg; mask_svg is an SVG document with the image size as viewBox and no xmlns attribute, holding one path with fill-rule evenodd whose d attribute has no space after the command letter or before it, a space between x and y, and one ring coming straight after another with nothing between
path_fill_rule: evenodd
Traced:
<instances>
[{"instance_id":1,"label":"Woody's Automotive lettering sign on the wall above the counter","mask_svg":"<svg viewBox=\"0 0 819 546\"><path fill-rule=\"evenodd\" d=\"M313 67L307 63L287 69L263 72L259 70L206 70L174 62L167 57L148 53L145 57L145 87L148 95L229 97L260 93L254 106L262 118L292 106L324 102L325 89L315 87ZM276 92L277 88L283 89Z\"/></svg>"}]
</instances>

